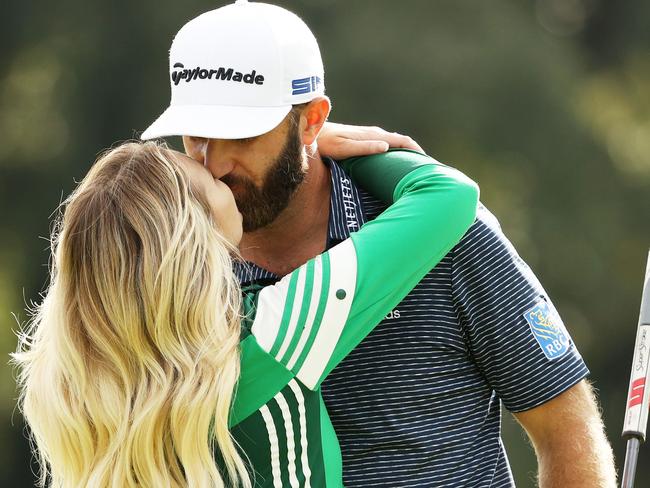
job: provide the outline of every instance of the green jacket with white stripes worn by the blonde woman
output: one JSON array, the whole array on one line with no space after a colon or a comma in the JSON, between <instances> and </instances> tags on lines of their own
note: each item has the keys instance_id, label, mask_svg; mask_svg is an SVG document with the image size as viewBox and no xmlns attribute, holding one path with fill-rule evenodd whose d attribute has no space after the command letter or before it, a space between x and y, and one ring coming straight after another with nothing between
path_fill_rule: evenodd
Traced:
<instances>
[{"instance_id":1,"label":"green jacket with white stripes worn by the blonde woman","mask_svg":"<svg viewBox=\"0 0 650 488\"><path fill-rule=\"evenodd\" d=\"M391 206L275 285L244 290L230 425L257 487L343 485L321 382L475 218L478 187L427 156L398 150L342 164Z\"/></svg>"}]
</instances>

